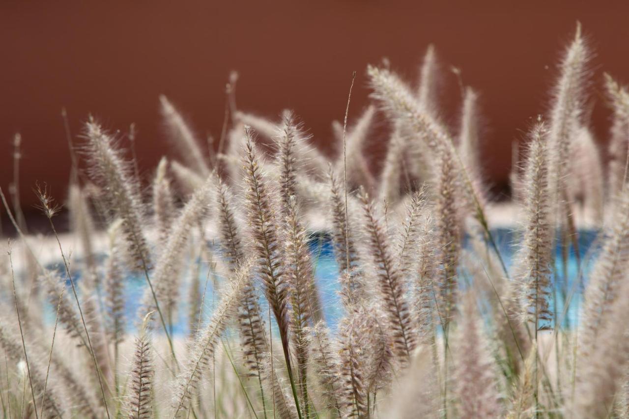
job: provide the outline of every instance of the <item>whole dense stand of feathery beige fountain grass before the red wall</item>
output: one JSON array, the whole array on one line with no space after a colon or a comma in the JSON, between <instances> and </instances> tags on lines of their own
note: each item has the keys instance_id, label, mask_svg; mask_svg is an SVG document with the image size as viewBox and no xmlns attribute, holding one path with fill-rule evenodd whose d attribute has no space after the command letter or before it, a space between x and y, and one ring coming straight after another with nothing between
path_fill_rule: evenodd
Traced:
<instances>
[{"instance_id":1,"label":"whole dense stand of feathery beige fountain grass before the red wall","mask_svg":"<svg viewBox=\"0 0 629 419\"><path fill-rule=\"evenodd\" d=\"M458 128L438 118L432 46L417 88L369 66L374 102L356 118L352 74L335 157L292 112L276 122L237 109L235 74L216 151L160 96L179 155L151 179L89 118L78 140L68 133L67 237L38 190L60 269L28 233L16 136L10 204L0 190L18 232L0 260L4 416L629 417L629 92L606 75L602 159L584 110L590 56L577 25L550 111L513 162L510 260L490 228L479 96L460 81ZM391 131L379 171L366 152L377 120ZM582 212L599 245L581 259ZM335 324L315 281L313 220L337 261ZM145 284L128 313L134 277ZM182 322L189 333L175 332Z\"/></svg>"}]
</instances>

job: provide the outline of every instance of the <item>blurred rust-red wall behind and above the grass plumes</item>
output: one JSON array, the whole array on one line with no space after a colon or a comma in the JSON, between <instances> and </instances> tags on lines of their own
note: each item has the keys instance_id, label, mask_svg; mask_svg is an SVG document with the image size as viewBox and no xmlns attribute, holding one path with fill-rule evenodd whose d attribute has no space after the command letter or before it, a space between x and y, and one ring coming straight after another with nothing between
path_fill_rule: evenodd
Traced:
<instances>
[{"instance_id":1,"label":"blurred rust-red wall behind and above the grass plumes","mask_svg":"<svg viewBox=\"0 0 629 419\"><path fill-rule=\"evenodd\" d=\"M482 3L482 4L481 4ZM516 3L518 3L516 5ZM615 3L615 6L611 6ZM441 113L457 128L460 69L481 93L482 162L496 198L508 194L511 144L543 113L562 48L576 21L596 52L591 118L604 147L610 113L602 73L629 82L629 3L423 1L113 1L0 5L0 187L13 179L13 136L21 133L19 186L33 211L36 181L63 202L72 140L92 114L110 130L137 130L145 179L169 152L159 116L166 94L199 137L220 137L225 84L237 70L237 105L277 118L293 109L328 153L357 71L350 120L368 103L368 63L383 57L413 83L426 47L442 63ZM381 117L381 120L383 118ZM372 140L374 170L387 135ZM218 141L217 141L218 142ZM0 210L3 224L6 213ZM6 230L5 230L6 231Z\"/></svg>"}]
</instances>

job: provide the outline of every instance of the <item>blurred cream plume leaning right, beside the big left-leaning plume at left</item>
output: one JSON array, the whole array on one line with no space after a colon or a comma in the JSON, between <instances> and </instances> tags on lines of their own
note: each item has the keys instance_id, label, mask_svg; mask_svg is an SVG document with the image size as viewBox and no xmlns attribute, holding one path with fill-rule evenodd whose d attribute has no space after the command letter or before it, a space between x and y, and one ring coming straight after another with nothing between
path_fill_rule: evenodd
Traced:
<instances>
[{"instance_id":1,"label":"blurred cream plume leaning right, beside the big left-leaning plume at left","mask_svg":"<svg viewBox=\"0 0 629 419\"><path fill-rule=\"evenodd\" d=\"M211 192L214 189L214 178L208 176L204 185L197 189L192 197L187 201L181 213L174 221L168 239L162 250L162 257L157 260L155 272L153 273L153 284L155 284L155 296L164 308L167 316L172 316L179 301L179 288L181 285L181 269L183 264L182 255L186 251L186 243L190 230L203 219L209 208ZM148 311L155 310L152 291L147 289L143 300ZM162 306L162 304L164 304Z\"/></svg>"}]
</instances>

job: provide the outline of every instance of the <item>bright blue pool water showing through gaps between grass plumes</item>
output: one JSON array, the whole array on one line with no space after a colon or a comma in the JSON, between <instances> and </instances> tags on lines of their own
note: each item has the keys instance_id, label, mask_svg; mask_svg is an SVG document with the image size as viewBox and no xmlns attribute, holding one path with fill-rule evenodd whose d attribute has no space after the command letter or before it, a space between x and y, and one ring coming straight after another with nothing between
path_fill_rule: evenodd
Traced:
<instances>
[{"instance_id":1,"label":"bright blue pool water showing through gaps between grass plumes","mask_svg":"<svg viewBox=\"0 0 629 419\"><path fill-rule=\"evenodd\" d=\"M496 241L496 245L499 249L501 258L504 261L507 269L511 269L513 265L514 254L516 247L514 243L519 241L518 233L513 232L505 228L493 230L492 235ZM467 241L467 240L466 240ZM560 246L556 249L557 272L555 272L553 281L554 289L552 299L550 301L551 310L555 310L557 315L555 318L562 321L564 327L571 327L576 324L578 318L578 308L581 301L582 282L587 278L587 272L591 264L587 263L591 259L591 255L596 252L589 252L594 250L593 243L596 241L596 232L583 230L579 232L579 257L581 259L582 272L579 274L579 263L577 255L574 250L570 249L570 254L567 259L566 272L567 281L564 280L564 265L562 262L562 250ZM313 260L316 260L315 264L315 278L320 292L321 303L324 308L324 315L328 321L330 328L335 329L338 320L343 316L343 306L338 296L338 265L336 263L331 241L329 237L325 235L313 235L310 242L311 254ZM467 243L464 243L466 246ZM218 250L218 249L217 249ZM189 269L196 270L196 267L190 267ZM206 264L203 264L200 272L200 292L204 294L204 317L207 318L213 310L214 304L218 302L218 294L220 294L221 284L226 281L225 278L219 277L213 272L208 271ZM188 272L190 274L190 272ZM76 274L77 281L80 281L79 274ZM140 301L146 287L146 279L143 274L133 274L128 277L125 284L125 297L126 305L125 312L127 315L130 331L135 329L136 318L138 318L138 308L140 307ZM574 288L573 288L574 287ZM214 289L218 292L215 294ZM567 308L567 313L562 316L564 310L564 301L567 295L571 294L571 290L576 291L571 298L571 303ZM173 319L172 331L177 333L188 332L188 319L187 313L187 289L182 289L180 294L179 303L179 317ZM263 298L260 298L260 304L262 310L266 312L267 306ZM48 308L48 318L54 319L54 313L52 308Z\"/></svg>"}]
</instances>

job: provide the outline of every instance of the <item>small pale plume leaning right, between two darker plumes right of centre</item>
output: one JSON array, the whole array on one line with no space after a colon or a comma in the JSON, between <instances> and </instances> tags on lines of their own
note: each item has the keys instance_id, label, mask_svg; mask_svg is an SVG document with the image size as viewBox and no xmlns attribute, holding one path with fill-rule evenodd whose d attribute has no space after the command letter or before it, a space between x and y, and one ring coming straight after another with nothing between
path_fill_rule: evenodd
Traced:
<instances>
[{"instance_id":1,"label":"small pale plume leaning right, between two darker plumes right of centre","mask_svg":"<svg viewBox=\"0 0 629 419\"><path fill-rule=\"evenodd\" d=\"M406 218L402 222L398 232L398 242L396 242L396 257L398 259L399 271L402 276L407 276L411 271L420 241L421 213L426 206L426 189L411 194L409 202L406 203Z\"/></svg>"}]
</instances>

